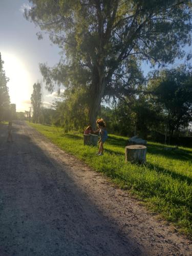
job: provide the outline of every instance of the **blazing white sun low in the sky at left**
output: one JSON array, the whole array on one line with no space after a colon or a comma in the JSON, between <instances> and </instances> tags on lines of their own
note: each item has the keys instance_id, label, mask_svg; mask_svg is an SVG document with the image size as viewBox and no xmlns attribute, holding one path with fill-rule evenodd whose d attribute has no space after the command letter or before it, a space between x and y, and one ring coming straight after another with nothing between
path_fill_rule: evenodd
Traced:
<instances>
[{"instance_id":1,"label":"blazing white sun low in the sky at left","mask_svg":"<svg viewBox=\"0 0 192 256\"><path fill-rule=\"evenodd\" d=\"M16 104L17 111L28 110L32 93L31 76L25 61L14 53L1 52L4 71L9 78L7 86L11 103Z\"/></svg>"}]
</instances>

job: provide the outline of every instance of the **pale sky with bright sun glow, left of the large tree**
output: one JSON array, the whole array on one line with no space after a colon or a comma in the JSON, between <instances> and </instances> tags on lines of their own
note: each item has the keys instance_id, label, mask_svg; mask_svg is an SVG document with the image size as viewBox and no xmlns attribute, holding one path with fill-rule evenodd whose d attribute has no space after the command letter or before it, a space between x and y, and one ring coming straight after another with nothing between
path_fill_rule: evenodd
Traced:
<instances>
[{"instance_id":1,"label":"pale sky with bright sun glow, left of the large tree","mask_svg":"<svg viewBox=\"0 0 192 256\"><path fill-rule=\"evenodd\" d=\"M0 0L0 52L4 71L10 79L7 85L11 103L16 104L17 112L29 111L33 84L42 81L39 63L48 63L52 67L60 58L59 48L52 45L48 36L42 40L37 39L36 33L40 29L23 16L24 8L28 6L27 0ZM185 49L191 52L190 47ZM176 60L173 66L184 61ZM150 71L146 63L142 69L144 75ZM50 94L44 84L42 93L44 106L50 106L57 97L57 92Z\"/></svg>"}]
</instances>

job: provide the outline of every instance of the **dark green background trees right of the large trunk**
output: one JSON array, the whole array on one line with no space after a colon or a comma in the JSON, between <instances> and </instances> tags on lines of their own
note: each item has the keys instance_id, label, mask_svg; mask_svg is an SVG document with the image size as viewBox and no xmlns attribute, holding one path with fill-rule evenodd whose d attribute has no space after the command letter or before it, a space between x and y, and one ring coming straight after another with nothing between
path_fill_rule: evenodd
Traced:
<instances>
[{"instance_id":1,"label":"dark green background trees right of the large trunk","mask_svg":"<svg viewBox=\"0 0 192 256\"><path fill-rule=\"evenodd\" d=\"M167 127L170 143L173 135L178 137L192 122L191 68L162 69L148 78L146 88L141 87L137 96L119 100L114 109L102 107L101 115L109 120L110 132L122 135L164 142Z\"/></svg>"}]
</instances>

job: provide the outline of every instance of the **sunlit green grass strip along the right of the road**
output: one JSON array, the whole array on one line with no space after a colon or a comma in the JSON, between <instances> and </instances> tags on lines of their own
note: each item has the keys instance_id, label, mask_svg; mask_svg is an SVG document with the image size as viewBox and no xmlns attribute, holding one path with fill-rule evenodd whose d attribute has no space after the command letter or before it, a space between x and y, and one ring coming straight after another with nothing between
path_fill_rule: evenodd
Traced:
<instances>
[{"instance_id":1,"label":"sunlit green grass strip along the right of the road","mask_svg":"<svg viewBox=\"0 0 192 256\"><path fill-rule=\"evenodd\" d=\"M148 142L147 163L137 165L125 163L126 137L109 135L104 155L98 157L95 156L96 147L83 145L80 133L64 134L55 126L30 125L62 150L142 198L151 210L173 222L179 231L192 236L192 148L179 147L178 152L167 152L163 144Z\"/></svg>"}]
</instances>

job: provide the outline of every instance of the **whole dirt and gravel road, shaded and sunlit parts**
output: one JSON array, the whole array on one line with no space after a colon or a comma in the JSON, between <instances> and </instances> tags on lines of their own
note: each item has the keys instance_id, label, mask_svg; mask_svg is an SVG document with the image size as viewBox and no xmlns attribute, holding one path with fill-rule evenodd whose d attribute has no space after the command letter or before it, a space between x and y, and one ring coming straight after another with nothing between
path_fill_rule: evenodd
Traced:
<instances>
[{"instance_id":1,"label":"whole dirt and gravel road, shaded and sunlit parts","mask_svg":"<svg viewBox=\"0 0 192 256\"><path fill-rule=\"evenodd\" d=\"M0 256L191 255L191 241L24 122L0 125Z\"/></svg>"}]
</instances>

